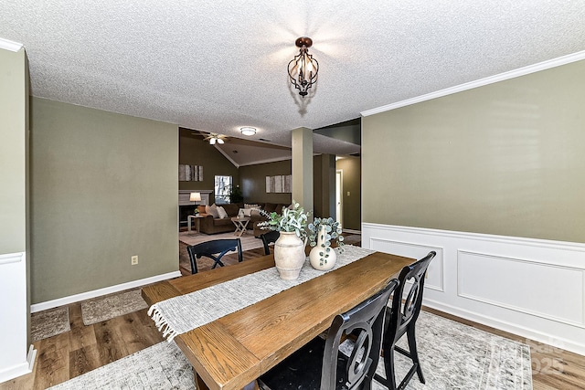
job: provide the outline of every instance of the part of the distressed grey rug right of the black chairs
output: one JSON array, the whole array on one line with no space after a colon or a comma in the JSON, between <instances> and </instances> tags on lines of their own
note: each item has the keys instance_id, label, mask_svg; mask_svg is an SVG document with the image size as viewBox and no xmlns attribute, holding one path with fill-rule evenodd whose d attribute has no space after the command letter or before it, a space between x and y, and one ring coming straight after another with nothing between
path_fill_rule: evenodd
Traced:
<instances>
[{"instance_id":1,"label":"part of the distressed grey rug right of the black chairs","mask_svg":"<svg viewBox=\"0 0 585 390\"><path fill-rule=\"evenodd\" d=\"M399 346L408 350L406 337ZM408 389L532 389L527 344L420 311L417 346L426 385L415 374ZM411 362L400 353L394 356L400 382ZM378 374L386 377L384 364L378 364ZM385 389L378 384L372 388Z\"/></svg>"}]
</instances>

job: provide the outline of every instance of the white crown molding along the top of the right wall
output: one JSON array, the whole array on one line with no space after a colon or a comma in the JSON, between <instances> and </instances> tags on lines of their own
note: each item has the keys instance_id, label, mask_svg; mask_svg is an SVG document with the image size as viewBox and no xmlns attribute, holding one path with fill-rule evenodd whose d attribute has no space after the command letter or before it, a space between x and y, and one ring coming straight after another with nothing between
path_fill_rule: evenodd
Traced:
<instances>
[{"instance_id":1,"label":"white crown molding along the top of the right wall","mask_svg":"<svg viewBox=\"0 0 585 390\"><path fill-rule=\"evenodd\" d=\"M411 104L420 103L421 101L441 98L443 96L452 95L453 93L462 92L463 90L473 90L473 88L484 87L485 85L494 84L495 82L504 81L506 79L515 79L520 76L526 76L527 74L538 72L540 70L560 67L561 65L567 65L571 62L580 61L581 59L585 59L585 50L569 54L567 56L549 59L547 61L539 62L534 65L528 65L527 67L524 68L510 70L484 79L477 79L474 81L466 82L464 84L446 88L444 90L437 90L435 92L427 93L426 95L420 95L415 98L398 101L396 103L391 103L386 106L378 107L377 109L362 111L360 112L360 114L363 117L367 117L370 115L378 114L380 112L392 111L399 109L400 107L406 107L410 106Z\"/></svg>"}]
</instances>

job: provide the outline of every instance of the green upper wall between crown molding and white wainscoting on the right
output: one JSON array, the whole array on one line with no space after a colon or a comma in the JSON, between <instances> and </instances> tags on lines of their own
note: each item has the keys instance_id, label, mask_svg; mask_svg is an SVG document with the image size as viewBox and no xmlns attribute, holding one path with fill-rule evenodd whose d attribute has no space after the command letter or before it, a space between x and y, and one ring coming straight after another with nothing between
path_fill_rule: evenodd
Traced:
<instances>
[{"instance_id":1,"label":"green upper wall between crown molding and white wainscoting on the right","mask_svg":"<svg viewBox=\"0 0 585 390\"><path fill-rule=\"evenodd\" d=\"M364 222L585 242L585 61L363 118Z\"/></svg>"}]
</instances>

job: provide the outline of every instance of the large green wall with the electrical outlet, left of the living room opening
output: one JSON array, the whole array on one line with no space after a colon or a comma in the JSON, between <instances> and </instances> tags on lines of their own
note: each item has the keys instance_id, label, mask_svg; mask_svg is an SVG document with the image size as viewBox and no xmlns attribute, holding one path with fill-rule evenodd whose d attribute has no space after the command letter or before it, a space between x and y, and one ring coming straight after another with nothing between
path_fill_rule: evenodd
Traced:
<instances>
[{"instance_id":1,"label":"large green wall with the electrical outlet, left of the living room opening","mask_svg":"<svg viewBox=\"0 0 585 390\"><path fill-rule=\"evenodd\" d=\"M176 125L37 98L31 118L32 302L176 271Z\"/></svg>"}]
</instances>

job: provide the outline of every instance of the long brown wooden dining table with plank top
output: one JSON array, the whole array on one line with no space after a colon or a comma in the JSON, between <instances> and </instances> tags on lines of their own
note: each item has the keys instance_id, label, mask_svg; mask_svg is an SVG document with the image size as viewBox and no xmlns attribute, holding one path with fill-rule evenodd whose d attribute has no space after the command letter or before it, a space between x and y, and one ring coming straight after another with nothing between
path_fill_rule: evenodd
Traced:
<instances>
[{"instance_id":1,"label":"long brown wooden dining table with plank top","mask_svg":"<svg viewBox=\"0 0 585 390\"><path fill-rule=\"evenodd\" d=\"M193 364L197 390L258 388L256 379L261 374L326 331L336 314L381 290L389 279L398 276L400 269L414 261L414 258L373 252L179 334L175 341ZM271 267L274 267L273 255L252 258L146 286L142 294L152 305ZM246 294L246 291L239 293ZM197 307L189 310L197 311Z\"/></svg>"}]
</instances>

